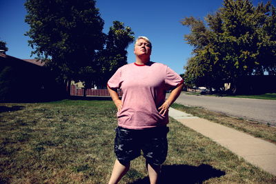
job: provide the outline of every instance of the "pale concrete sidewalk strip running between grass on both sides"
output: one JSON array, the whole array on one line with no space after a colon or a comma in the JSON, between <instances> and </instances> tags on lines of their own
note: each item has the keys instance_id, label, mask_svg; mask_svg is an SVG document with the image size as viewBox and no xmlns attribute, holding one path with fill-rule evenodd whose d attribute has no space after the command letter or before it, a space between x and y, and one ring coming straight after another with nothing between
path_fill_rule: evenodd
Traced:
<instances>
[{"instance_id":1,"label":"pale concrete sidewalk strip running between grass on both sides","mask_svg":"<svg viewBox=\"0 0 276 184\"><path fill-rule=\"evenodd\" d=\"M173 108L170 108L169 116L276 176L275 144Z\"/></svg>"}]
</instances>

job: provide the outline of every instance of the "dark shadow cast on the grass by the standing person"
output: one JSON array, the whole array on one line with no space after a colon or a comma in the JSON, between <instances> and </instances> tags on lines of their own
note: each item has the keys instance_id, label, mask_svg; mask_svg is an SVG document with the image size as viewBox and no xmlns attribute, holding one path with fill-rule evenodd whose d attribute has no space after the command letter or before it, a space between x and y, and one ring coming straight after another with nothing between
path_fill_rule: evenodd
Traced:
<instances>
[{"instance_id":1,"label":"dark shadow cast on the grass by the standing person","mask_svg":"<svg viewBox=\"0 0 276 184\"><path fill-rule=\"evenodd\" d=\"M226 172L217 170L210 165L162 165L160 184L203 183L210 178L224 176ZM131 184L148 184L148 177Z\"/></svg>"}]
</instances>

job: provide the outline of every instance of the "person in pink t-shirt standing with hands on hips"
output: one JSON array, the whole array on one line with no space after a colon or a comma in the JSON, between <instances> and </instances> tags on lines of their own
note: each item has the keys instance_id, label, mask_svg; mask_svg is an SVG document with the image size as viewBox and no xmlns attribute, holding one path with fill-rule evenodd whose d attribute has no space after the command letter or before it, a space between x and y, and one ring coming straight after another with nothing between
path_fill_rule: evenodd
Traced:
<instances>
[{"instance_id":1,"label":"person in pink t-shirt standing with hands on hips","mask_svg":"<svg viewBox=\"0 0 276 184\"><path fill-rule=\"evenodd\" d=\"M117 160L109 184L118 183L130 161L144 153L150 183L157 183L168 151L168 108L179 96L184 81L168 66L150 61L152 44L146 37L135 42L135 63L122 66L108 81L117 107L115 137ZM119 99L117 89L123 92ZM166 100L166 90L171 90Z\"/></svg>"}]
</instances>

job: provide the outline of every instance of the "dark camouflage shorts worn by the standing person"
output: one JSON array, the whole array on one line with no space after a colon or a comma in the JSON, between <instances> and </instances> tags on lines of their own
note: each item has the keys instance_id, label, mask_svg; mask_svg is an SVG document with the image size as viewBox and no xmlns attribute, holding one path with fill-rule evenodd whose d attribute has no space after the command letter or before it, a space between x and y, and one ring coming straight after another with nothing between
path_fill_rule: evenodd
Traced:
<instances>
[{"instance_id":1,"label":"dark camouflage shorts worn by the standing person","mask_svg":"<svg viewBox=\"0 0 276 184\"><path fill-rule=\"evenodd\" d=\"M168 152L168 127L153 127L145 130L130 130L117 127L114 150L118 161L126 165L141 155L150 164L161 165Z\"/></svg>"}]
</instances>

